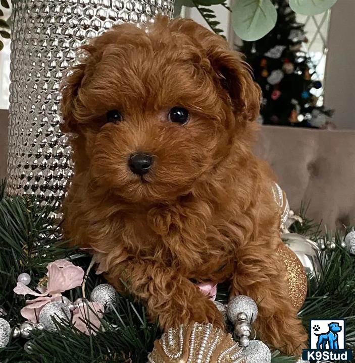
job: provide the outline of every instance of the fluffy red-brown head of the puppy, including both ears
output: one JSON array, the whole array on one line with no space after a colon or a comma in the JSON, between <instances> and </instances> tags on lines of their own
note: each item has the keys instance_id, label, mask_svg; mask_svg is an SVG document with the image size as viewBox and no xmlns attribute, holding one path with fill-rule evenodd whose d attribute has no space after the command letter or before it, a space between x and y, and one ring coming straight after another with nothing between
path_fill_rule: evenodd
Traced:
<instances>
[{"instance_id":1,"label":"fluffy red-brown head of the puppy, including both ears","mask_svg":"<svg viewBox=\"0 0 355 363\"><path fill-rule=\"evenodd\" d=\"M76 172L129 203L187 194L246 147L260 104L224 39L163 17L93 39L62 92L62 131L77 134Z\"/></svg>"}]
</instances>

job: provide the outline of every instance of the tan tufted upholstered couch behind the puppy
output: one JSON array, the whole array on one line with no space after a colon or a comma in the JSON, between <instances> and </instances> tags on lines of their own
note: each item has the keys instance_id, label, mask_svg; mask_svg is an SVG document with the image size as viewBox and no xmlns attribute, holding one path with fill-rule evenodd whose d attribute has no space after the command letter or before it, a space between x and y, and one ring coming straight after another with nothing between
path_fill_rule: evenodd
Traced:
<instances>
[{"instance_id":1,"label":"tan tufted upholstered couch behind the puppy","mask_svg":"<svg viewBox=\"0 0 355 363\"><path fill-rule=\"evenodd\" d=\"M6 172L7 111L0 110L0 175ZM355 131L263 126L256 152L275 171L291 208L329 228L355 224Z\"/></svg>"}]
</instances>

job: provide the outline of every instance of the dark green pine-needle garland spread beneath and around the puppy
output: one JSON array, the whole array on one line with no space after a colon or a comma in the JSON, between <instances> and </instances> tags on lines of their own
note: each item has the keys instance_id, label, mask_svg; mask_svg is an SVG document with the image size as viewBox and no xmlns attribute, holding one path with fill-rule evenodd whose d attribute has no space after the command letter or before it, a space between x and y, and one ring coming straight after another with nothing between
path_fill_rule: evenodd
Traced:
<instances>
[{"instance_id":1,"label":"dark green pine-needle garland spread beneath and around the puppy","mask_svg":"<svg viewBox=\"0 0 355 363\"><path fill-rule=\"evenodd\" d=\"M5 182L0 184L0 307L3 316L14 328L24 322L20 315L25 298L16 295L13 288L22 272L31 275L30 288L34 289L44 276L46 265L56 259L67 259L85 271L90 255L66 248L60 226L55 225L56 203L44 204L34 197L6 197ZM302 209L304 212L304 208ZM304 217L303 217L304 218ZM305 228L306 227L306 228ZM306 329L311 318L345 318L347 348L355 348L355 257L342 247L342 235L327 232L321 237L320 228L304 218L300 225L292 225L293 232L308 234L311 238L323 238L332 248L322 252L322 274L319 285L311 291L299 312ZM101 275L90 271L86 280L86 295L94 286L104 282ZM81 289L64 293L74 301L81 297ZM219 285L217 299L226 301L228 286ZM2 363L145 363L147 353L162 332L158 322L149 322L146 311L130 294L116 294L116 308L101 320L102 327L95 335L85 335L71 323L58 324L58 332L34 331L30 339L32 353L23 349L26 340L12 338L5 348L0 348ZM86 321L90 326L90 322ZM273 352L273 363L295 362L298 357Z\"/></svg>"}]
</instances>

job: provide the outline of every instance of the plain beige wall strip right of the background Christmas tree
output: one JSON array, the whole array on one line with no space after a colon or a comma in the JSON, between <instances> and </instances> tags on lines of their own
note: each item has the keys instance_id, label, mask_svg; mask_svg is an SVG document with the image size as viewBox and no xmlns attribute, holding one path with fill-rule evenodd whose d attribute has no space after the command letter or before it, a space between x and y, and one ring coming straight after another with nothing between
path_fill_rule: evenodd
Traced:
<instances>
[{"instance_id":1,"label":"plain beige wall strip right of the background Christmas tree","mask_svg":"<svg viewBox=\"0 0 355 363\"><path fill-rule=\"evenodd\" d=\"M333 6L328 35L324 104L338 129L355 129L355 0Z\"/></svg>"}]
</instances>

